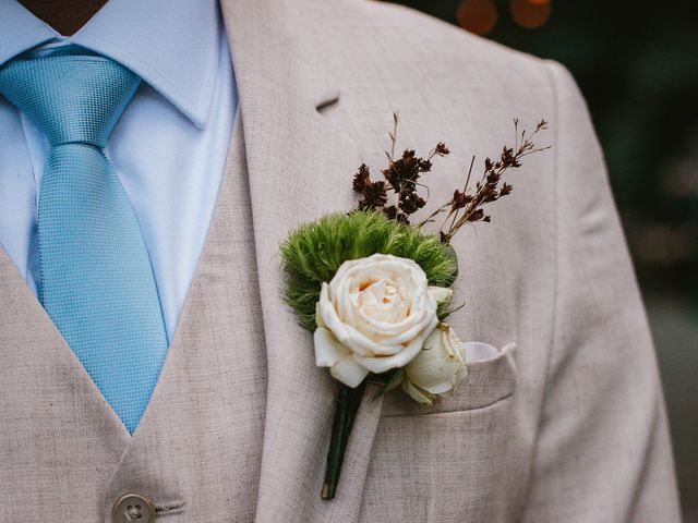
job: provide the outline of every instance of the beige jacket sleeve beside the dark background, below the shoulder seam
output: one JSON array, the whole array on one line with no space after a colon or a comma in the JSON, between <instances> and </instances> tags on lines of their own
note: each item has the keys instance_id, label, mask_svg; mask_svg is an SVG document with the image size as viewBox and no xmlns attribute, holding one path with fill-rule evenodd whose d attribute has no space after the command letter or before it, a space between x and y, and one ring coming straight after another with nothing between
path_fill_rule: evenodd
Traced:
<instances>
[{"instance_id":1,"label":"beige jacket sleeve beside the dark background, below the shoulder seam","mask_svg":"<svg viewBox=\"0 0 698 523\"><path fill-rule=\"evenodd\" d=\"M654 349L604 160L569 73L555 89L555 325L526 523L681 521Z\"/></svg>"}]
</instances>

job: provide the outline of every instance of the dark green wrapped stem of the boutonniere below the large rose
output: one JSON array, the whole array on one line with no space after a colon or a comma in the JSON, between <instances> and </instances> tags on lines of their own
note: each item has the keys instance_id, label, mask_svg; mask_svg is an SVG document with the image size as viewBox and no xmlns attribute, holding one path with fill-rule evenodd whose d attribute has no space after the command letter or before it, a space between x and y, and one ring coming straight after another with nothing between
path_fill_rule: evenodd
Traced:
<instances>
[{"instance_id":1,"label":"dark green wrapped stem of the boutonniere below the large rose","mask_svg":"<svg viewBox=\"0 0 698 523\"><path fill-rule=\"evenodd\" d=\"M359 404L361 403L364 389L365 381L356 389L347 387L344 384L339 385L337 409L335 411L335 421L332 425L329 450L327 451L325 483L321 492L322 499L333 499L337 492L337 484L339 483L341 464L345 461L347 442L349 441L351 426L359 411Z\"/></svg>"}]
</instances>

